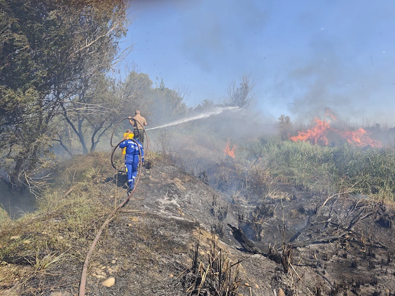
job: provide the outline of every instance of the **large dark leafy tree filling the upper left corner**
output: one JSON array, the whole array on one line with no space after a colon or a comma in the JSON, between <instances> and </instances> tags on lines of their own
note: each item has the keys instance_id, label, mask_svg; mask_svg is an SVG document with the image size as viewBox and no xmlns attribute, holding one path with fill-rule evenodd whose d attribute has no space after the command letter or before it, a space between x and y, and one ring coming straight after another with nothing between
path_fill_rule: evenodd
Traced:
<instances>
[{"instance_id":1,"label":"large dark leafy tree filling the upper left corner","mask_svg":"<svg viewBox=\"0 0 395 296\"><path fill-rule=\"evenodd\" d=\"M63 102L124 56L126 4L0 0L0 166L11 182L48 155Z\"/></svg>"}]
</instances>

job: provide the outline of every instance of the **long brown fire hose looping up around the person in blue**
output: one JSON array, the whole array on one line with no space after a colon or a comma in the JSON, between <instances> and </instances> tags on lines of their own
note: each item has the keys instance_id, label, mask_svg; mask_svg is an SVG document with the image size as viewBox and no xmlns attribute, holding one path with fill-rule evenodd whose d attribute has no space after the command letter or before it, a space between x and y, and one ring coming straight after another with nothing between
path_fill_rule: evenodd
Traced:
<instances>
[{"instance_id":1,"label":"long brown fire hose looping up around the person in blue","mask_svg":"<svg viewBox=\"0 0 395 296\"><path fill-rule=\"evenodd\" d=\"M113 144L112 144L112 140L113 140L114 133L115 133L115 131L116 131L118 125L120 124L120 122L123 121L124 119L128 119L128 117L125 117L125 118L121 119L121 120L118 122L118 124L116 125L116 127L115 127L115 129L114 129L114 131L113 131L113 134L111 135L111 146L112 146L112 147L114 147ZM133 119L133 120L135 120L135 119ZM137 120L136 120L136 121L137 121ZM138 121L137 121L137 122L138 122ZM138 123L140 123L140 122L138 122ZM142 125L141 125L141 126L142 126ZM144 129L144 127L143 127L143 129ZM145 132L145 129L144 129L144 132ZM147 136L147 134L146 134L146 136ZM122 139L122 141L123 141L123 140L124 140L124 139ZM116 149L117 149L118 146L122 143L122 141L120 141L120 142L114 147L113 152L111 153L111 165L117 170L117 174L118 174L118 169L117 169L117 167L114 165L113 157L114 157L114 153L115 153ZM92 244L91 244L91 246L90 246L90 248L89 248L89 251L88 251L88 253L86 254L85 261L84 261L84 263L83 263L82 273L81 273L81 280L80 280L80 282L79 282L79 296L85 296L86 276L87 276L87 272L88 272L89 259L90 259L90 257L92 256L93 250L95 249L95 246L96 246L97 242L99 241L99 238L100 238L100 236L101 236L101 234L102 234L104 228L114 219L114 217L115 217L115 215L117 214L117 212L118 212L118 211L129 201L129 199L130 199L130 197L133 195L134 191L136 191L137 185L139 184L140 176L141 176L141 170L142 170L142 161L141 161L141 159L142 159L142 153L141 153L141 148L140 148L140 146L138 145L138 143L137 143L135 140L133 140L133 139L131 139L131 141L133 141L134 143L137 144L137 147L139 148L139 156L140 156L140 160L139 160L139 172L138 172L138 175L137 175L136 183L135 183L135 185L134 185L134 188L133 188L132 192L130 192L130 194L126 197L126 199L125 199L122 203L120 203L120 204L118 205L118 207L114 210L114 212L110 215L110 217L106 220L106 222L103 223L103 225L100 227L99 231L97 232L96 237L95 237L95 239L93 240L93 242L92 242ZM147 136L147 150L148 150L148 136Z\"/></svg>"}]
</instances>

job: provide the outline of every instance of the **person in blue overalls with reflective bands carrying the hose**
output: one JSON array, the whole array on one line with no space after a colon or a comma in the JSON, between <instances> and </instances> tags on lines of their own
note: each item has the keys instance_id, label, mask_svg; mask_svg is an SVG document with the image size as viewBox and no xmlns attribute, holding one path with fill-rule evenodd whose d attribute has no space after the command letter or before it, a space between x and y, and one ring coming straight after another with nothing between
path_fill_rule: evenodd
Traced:
<instances>
[{"instance_id":1,"label":"person in blue overalls with reflective bands carrying the hose","mask_svg":"<svg viewBox=\"0 0 395 296\"><path fill-rule=\"evenodd\" d=\"M141 143L133 139L133 133L129 133L126 138L119 144L119 148L125 148L125 169L127 174L128 190L133 190L134 181L137 177L137 168L139 166L139 147L141 150L141 162L144 163L144 150ZM136 144L137 143L137 144ZM138 146L137 146L138 145Z\"/></svg>"}]
</instances>

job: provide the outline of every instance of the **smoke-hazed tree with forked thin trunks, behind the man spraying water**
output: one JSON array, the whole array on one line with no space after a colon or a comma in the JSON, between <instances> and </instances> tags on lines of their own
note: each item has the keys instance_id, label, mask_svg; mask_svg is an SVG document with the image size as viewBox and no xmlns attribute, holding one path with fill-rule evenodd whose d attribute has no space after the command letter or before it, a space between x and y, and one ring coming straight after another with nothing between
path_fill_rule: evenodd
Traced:
<instances>
[{"instance_id":1,"label":"smoke-hazed tree with forked thin trunks, behind the man spraying water","mask_svg":"<svg viewBox=\"0 0 395 296\"><path fill-rule=\"evenodd\" d=\"M148 103L143 102L151 90L152 80L147 74L131 71L124 80L109 78L102 74L90 79L89 87L78 95L62 103L62 114L66 122L79 138L82 153L88 153L87 135L90 138L89 151L96 149L97 143L105 132L120 118L132 115L134 109L145 110ZM55 141L72 154L61 140Z\"/></svg>"}]
</instances>

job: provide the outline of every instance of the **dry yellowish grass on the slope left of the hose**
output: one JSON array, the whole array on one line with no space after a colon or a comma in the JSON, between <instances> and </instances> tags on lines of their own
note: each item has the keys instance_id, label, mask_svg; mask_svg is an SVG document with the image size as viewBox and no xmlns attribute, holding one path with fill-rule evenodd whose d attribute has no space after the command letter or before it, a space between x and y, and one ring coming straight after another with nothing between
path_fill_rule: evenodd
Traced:
<instances>
[{"instance_id":1,"label":"dry yellowish grass on the slope left of the hose","mask_svg":"<svg viewBox=\"0 0 395 296\"><path fill-rule=\"evenodd\" d=\"M0 259L25 258L36 271L62 264L70 254L83 259L84 247L112 210L100 197L115 190L114 185L98 182L107 176L102 174L102 160L95 158L71 160L53 187L37 199L36 212L11 221L0 209Z\"/></svg>"}]
</instances>

